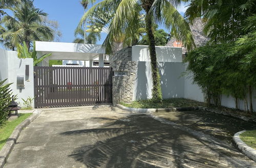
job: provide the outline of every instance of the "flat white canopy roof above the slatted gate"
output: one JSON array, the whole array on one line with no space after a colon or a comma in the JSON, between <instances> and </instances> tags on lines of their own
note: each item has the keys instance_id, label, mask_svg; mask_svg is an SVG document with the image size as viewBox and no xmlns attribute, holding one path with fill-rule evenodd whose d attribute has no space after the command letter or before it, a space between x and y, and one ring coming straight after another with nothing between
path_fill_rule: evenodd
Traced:
<instances>
[{"instance_id":1,"label":"flat white canopy roof above the slatted gate","mask_svg":"<svg viewBox=\"0 0 256 168\"><path fill-rule=\"evenodd\" d=\"M104 65L105 47L98 44L36 41L35 50L38 58L46 53L52 53L42 62L41 66L46 66L49 60L99 60L99 65Z\"/></svg>"}]
</instances>

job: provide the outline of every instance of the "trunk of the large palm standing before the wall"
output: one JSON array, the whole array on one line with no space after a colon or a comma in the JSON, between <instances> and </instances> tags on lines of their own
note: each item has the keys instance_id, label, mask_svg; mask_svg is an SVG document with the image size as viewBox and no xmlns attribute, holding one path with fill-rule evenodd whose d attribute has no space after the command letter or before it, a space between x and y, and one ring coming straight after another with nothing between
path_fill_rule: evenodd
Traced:
<instances>
[{"instance_id":1,"label":"trunk of the large palm standing before the wall","mask_svg":"<svg viewBox=\"0 0 256 168\"><path fill-rule=\"evenodd\" d=\"M152 17L148 15L151 6L146 6L146 32L149 40L149 49L150 49L150 59L151 59L151 70L152 70L152 79L153 79L153 89L152 89L152 100L155 102L161 102L162 91L160 85L160 75L157 68L157 57L156 57L156 47L155 47L155 37L153 34L153 21Z\"/></svg>"}]
</instances>

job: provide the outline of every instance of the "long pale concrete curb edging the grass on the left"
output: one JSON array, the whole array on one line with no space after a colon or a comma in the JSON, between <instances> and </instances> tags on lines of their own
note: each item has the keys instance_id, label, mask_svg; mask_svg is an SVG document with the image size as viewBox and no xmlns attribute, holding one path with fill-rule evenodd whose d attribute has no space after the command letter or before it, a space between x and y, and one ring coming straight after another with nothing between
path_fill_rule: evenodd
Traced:
<instances>
[{"instance_id":1,"label":"long pale concrete curb edging the grass on the left","mask_svg":"<svg viewBox=\"0 0 256 168\"><path fill-rule=\"evenodd\" d=\"M11 136L7 139L5 146L0 151L0 168L4 167L7 157L9 156L14 145L16 144L20 132L39 116L40 111L34 109L32 113L33 114L29 118L24 120L14 129Z\"/></svg>"}]
</instances>

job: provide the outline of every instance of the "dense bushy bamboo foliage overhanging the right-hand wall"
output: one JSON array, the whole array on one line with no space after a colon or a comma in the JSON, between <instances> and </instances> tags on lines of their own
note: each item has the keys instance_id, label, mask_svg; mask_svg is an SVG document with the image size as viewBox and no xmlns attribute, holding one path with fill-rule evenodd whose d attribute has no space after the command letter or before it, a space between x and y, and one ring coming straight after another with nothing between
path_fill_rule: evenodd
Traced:
<instances>
[{"instance_id":1,"label":"dense bushy bamboo foliage overhanging the right-hand wall","mask_svg":"<svg viewBox=\"0 0 256 168\"><path fill-rule=\"evenodd\" d=\"M244 100L244 109L252 113L252 91L256 88L256 31L234 43L198 47L190 51L184 61L188 62L186 71L202 89L207 106L212 102L221 106L221 94L225 94L234 98L238 109L239 100Z\"/></svg>"}]
</instances>

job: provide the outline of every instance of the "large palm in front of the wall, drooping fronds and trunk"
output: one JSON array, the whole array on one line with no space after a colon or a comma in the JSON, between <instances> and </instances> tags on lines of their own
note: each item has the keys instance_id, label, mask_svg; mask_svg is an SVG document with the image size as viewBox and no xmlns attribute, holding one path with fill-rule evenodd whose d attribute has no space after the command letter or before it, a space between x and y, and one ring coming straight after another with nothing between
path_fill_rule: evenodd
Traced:
<instances>
[{"instance_id":1,"label":"large palm in front of the wall, drooping fronds and trunk","mask_svg":"<svg viewBox=\"0 0 256 168\"><path fill-rule=\"evenodd\" d=\"M98 10L114 14L109 24L109 34L104 41L107 51L112 52L116 39L136 39L136 33L141 28L141 18L145 20L145 30L149 40L153 90L152 100L162 101L160 75L157 68L154 23L165 25L166 29L178 40L183 40L188 48L194 45L194 40L186 20L177 11L180 0L103 0L89 9L82 17L81 22L93 16ZM125 40L124 40L125 41Z\"/></svg>"}]
</instances>

